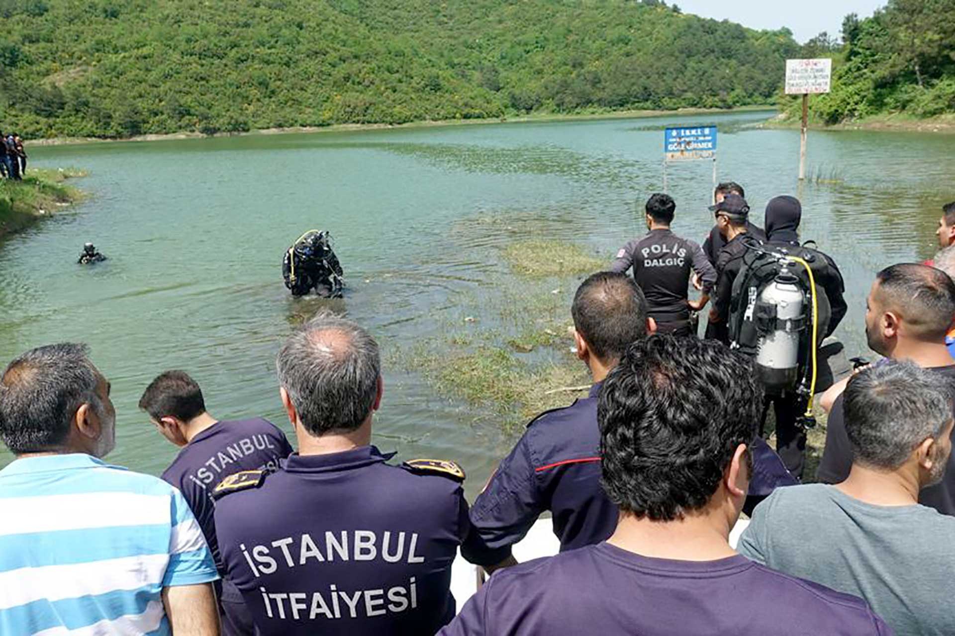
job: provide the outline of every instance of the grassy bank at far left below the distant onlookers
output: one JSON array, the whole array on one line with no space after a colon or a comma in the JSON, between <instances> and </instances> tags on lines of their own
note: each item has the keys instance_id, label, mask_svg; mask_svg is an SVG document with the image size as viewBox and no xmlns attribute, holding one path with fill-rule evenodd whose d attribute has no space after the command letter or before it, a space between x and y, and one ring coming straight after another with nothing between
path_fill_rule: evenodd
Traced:
<instances>
[{"instance_id":1,"label":"grassy bank at far left below the distant onlookers","mask_svg":"<svg viewBox=\"0 0 955 636\"><path fill-rule=\"evenodd\" d=\"M72 168L31 168L22 181L0 179L0 236L22 230L36 218L80 200L83 194L65 181L85 175Z\"/></svg>"}]
</instances>

